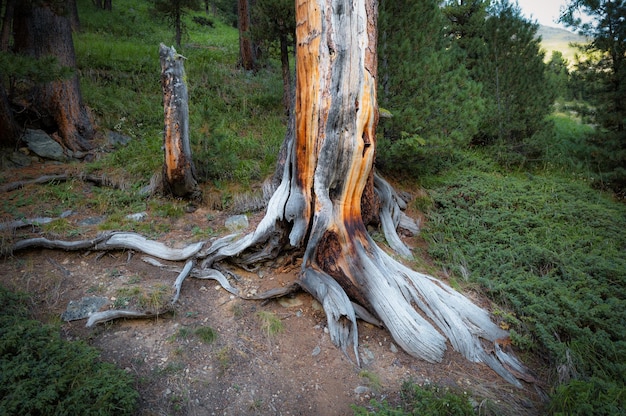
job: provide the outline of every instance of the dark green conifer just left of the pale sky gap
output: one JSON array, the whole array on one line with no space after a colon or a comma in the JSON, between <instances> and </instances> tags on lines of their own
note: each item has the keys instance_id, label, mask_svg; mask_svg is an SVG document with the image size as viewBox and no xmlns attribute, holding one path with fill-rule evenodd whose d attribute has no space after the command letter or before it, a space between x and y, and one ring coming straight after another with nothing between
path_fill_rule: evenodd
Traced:
<instances>
[{"instance_id":1,"label":"dark green conifer just left of the pale sky gap","mask_svg":"<svg viewBox=\"0 0 626 416\"><path fill-rule=\"evenodd\" d=\"M516 151L551 112L554 95L547 87L537 29L519 6L507 0L492 4L482 34L486 54L473 70L487 100L480 127L483 142L498 140Z\"/></svg>"}]
</instances>

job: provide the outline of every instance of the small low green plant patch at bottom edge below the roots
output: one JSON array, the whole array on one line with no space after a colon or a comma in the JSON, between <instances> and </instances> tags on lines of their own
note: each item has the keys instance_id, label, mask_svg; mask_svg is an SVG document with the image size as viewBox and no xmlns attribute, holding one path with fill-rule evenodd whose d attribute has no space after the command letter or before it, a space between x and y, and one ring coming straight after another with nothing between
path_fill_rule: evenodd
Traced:
<instances>
[{"instance_id":1,"label":"small low green plant patch at bottom edge below the roots","mask_svg":"<svg viewBox=\"0 0 626 416\"><path fill-rule=\"evenodd\" d=\"M405 381L400 391L401 403L393 407L387 402L372 400L372 411L364 407L353 407L354 414L369 415L432 415L464 416L474 415L474 408L465 393L453 392L448 388L433 384L420 386L413 381Z\"/></svg>"}]
</instances>

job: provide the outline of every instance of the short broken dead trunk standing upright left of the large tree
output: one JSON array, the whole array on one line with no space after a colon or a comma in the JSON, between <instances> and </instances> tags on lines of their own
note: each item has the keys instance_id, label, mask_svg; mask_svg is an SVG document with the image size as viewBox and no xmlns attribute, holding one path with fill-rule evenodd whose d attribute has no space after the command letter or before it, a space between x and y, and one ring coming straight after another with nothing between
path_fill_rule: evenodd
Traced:
<instances>
[{"instance_id":1,"label":"short broken dead trunk standing upright left of the large tree","mask_svg":"<svg viewBox=\"0 0 626 416\"><path fill-rule=\"evenodd\" d=\"M177 197L199 199L189 142L189 106L184 57L164 44L159 47L165 128L164 189Z\"/></svg>"}]
</instances>

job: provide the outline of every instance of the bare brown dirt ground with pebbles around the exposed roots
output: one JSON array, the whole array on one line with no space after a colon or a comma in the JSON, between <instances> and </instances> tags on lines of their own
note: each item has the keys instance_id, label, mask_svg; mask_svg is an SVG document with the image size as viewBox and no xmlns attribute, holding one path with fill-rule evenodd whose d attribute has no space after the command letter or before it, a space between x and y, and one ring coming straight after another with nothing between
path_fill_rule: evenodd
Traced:
<instances>
[{"instance_id":1,"label":"bare brown dirt ground with pebbles around the exposed roots","mask_svg":"<svg viewBox=\"0 0 626 416\"><path fill-rule=\"evenodd\" d=\"M2 175L4 183L9 183L65 169L59 164L36 164L5 170ZM22 188L20 195L40 186ZM81 184L84 188L76 192L89 192L91 186ZM11 206L15 191L0 198ZM21 207L20 212L37 217L48 209L42 202ZM78 224L97 215L74 212L68 220ZM197 241L192 238L193 227L223 230L229 214L201 205L178 219L148 215L151 221L170 222L170 231L160 235L159 241L181 247ZM251 218L247 231L261 216ZM86 226L76 238L96 233L95 226ZM41 235L41 230L27 227L13 234L11 238L21 239ZM0 283L31 293L33 309L42 319L59 320L72 300L102 296L109 301L105 308L111 308L132 302L132 295L139 291L170 288L177 273L147 264L142 257L128 251L20 251L0 260ZM182 268L180 263L164 263ZM232 270L240 276L233 284L249 293L289 284L298 266L266 265L254 273ZM478 294L473 298L488 305ZM264 329L259 312L273 313L282 330ZM196 332L202 327L212 328L216 339L203 341ZM86 328L85 320L61 324L65 338L86 340L102 352L104 360L136 376L141 395L138 415L350 415L352 405L367 406L370 399L397 403L400 386L409 379L466 392L479 414L543 413L536 385L517 389L451 348L442 363L429 364L400 351L385 329L360 322L359 368L332 344L325 328L321 306L307 293L262 303L235 297L213 281L192 278L184 282L172 313L120 319L93 328Z\"/></svg>"}]
</instances>

